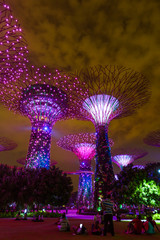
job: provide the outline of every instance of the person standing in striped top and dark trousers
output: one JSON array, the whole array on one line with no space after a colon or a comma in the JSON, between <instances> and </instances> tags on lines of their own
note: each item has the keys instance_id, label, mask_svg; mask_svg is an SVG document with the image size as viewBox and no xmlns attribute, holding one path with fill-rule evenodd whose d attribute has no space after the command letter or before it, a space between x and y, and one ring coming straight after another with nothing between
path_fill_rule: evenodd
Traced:
<instances>
[{"instance_id":1,"label":"person standing in striped top and dark trousers","mask_svg":"<svg viewBox=\"0 0 160 240\"><path fill-rule=\"evenodd\" d=\"M107 198L102 200L102 209L104 214L103 236L106 236L107 232L110 232L112 236L114 236L113 202L111 201L111 194L107 194Z\"/></svg>"}]
</instances>

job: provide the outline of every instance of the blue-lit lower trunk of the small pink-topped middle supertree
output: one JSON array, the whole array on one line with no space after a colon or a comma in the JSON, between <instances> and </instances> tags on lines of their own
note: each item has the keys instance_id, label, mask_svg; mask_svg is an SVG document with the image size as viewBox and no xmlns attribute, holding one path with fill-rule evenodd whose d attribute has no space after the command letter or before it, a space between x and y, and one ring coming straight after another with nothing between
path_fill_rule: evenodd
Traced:
<instances>
[{"instance_id":1,"label":"blue-lit lower trunk of the small pink-topped middle supertree","mask_svg":"<svg viewBox=\"0 0 160 240\"><path fill-rule=\"evenodd\" d=\"M78 207L93 207L92 173L84 172L79 175L77 205Z\"/></svg>"}]
</instances>

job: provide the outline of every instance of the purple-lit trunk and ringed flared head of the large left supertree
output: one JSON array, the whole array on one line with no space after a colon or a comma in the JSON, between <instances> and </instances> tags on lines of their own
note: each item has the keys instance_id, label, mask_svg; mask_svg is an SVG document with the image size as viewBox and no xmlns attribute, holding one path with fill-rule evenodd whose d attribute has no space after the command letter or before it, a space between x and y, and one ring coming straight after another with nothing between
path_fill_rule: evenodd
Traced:
<instances>
[{"instance_id":1,"label":"purple-lit trunk and ringed flared head of the large left supertree","mask_svg":"<svg viewBox=\"0 0 160 240\"><path fill-rule=\"evenodd\" d=\"M66 94L53 86L35 84L23 90L20 110L32 123L27 168L50 167L52 127L65 113L66 102Z\"/></svg>"}]
</instances>

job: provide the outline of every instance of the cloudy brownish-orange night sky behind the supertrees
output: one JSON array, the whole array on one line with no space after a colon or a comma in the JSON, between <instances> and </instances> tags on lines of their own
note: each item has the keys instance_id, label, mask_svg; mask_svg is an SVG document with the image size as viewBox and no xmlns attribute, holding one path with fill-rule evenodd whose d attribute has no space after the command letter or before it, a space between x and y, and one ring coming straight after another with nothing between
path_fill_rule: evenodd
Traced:
<instances>
[{"instance_id":1,"label":"cloudy brownish-orange night sky behind the supertrees","mask_svg":"<svg viewBox=\"0 0 160 240\"><path fill-rule=\"evenodd\" d=\"M159 0L8 0L28 42L30 61L36 65L61 66L75 72L97 64L123 65L143 73L151 81L152 96L133 116L113 120L109 137L117 148L141 148L148 155L134 162L160 160L160 149L143 143L160 129L160 1ZM18 147L0 153L0 162L17 165L27 154L31 131L29 119L0 105L0 136ZM53 127L51 159L64 171L79 169L74 153L56 146L67 134L94 132L91 122L67 120ZM124 152L125 153L125 152ZM114 165L115 172L119 167ZM77 186L78 176L73 178Z\"/></svg>"}]
</instances>

